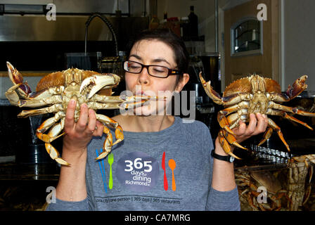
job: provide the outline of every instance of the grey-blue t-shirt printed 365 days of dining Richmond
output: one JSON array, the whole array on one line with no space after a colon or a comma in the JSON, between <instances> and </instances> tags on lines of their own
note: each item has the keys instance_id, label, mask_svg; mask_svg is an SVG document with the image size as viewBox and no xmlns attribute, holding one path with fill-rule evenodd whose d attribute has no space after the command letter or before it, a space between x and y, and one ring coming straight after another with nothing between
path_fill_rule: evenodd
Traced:
<instances>
[{"instance_id":1,"label":"grey-blue t-shirt printed 365 days of dining Richmond","mask_svg":"<svg viewBox=\"0 0 315 225\"><path fill-rule=\"evenodd\" d=\"M112 148L112 163L109 156L95 160L104 140L94 138L88 146L87 198L57 199L47 210L240 210L237 188L211 187L213 143L202 122L175 117L162 131L124 131L124 141Z\"/></svg>"}]
</instances>

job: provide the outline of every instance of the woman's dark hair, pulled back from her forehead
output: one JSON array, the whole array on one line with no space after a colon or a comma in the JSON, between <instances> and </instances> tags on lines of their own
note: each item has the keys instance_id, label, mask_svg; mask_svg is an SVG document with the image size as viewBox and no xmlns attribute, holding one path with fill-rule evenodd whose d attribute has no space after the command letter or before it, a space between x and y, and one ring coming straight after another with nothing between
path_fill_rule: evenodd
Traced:
<instances>
[{"instance_id":1,"label":"woman's dark hair, pulled back from her forehead","mask_svg":"<svg viewBox=\"0 0 315 225\"><path fill-rule=\"evenodd\" d=\"M142 40L150 39L162 41L171 47L174 51L174 60L177 64L178 70L181 70L183 73L188 72L190 58L185 43L180 37L174 34L172 30L169 29L160 28L155 30L143 30L127 45L127 56L129 57L130 51L134 44ZM179 79L181 79L181 77L183 77L183 75L180 75ZM177 79L177 82L179 82L179 79Z\"/></svg>"}]
</instances>

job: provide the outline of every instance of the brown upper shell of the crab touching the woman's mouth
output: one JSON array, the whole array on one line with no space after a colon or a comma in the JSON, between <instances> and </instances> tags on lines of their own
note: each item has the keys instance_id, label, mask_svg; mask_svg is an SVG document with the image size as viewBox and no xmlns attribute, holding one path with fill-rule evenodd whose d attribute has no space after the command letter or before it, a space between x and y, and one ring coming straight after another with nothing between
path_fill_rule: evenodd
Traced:
<instances>
[{"instance_id":1,"label":"brown upper shell of the crab touching the woman's mouth","mask_svg":"<svg viewBox=\"0 0 315 225\"><path fill-rule=\"evenodd\" d=\"M91 70L82 70L82 81L86 79L86 77L91 77L92 75L101 75L99 72L94 72ZM41 78L37 84L36 91L43 91L44 89L49 89L53 86L63 86L65 84L65 78L64 78L64 72L58 71L58 72L52 72L49 75L46 75L45 77ZM112 89L102 89L98 91L98 94L104 95L104 96L110 96L112 95Z\"/></svg>"}]
</instances>

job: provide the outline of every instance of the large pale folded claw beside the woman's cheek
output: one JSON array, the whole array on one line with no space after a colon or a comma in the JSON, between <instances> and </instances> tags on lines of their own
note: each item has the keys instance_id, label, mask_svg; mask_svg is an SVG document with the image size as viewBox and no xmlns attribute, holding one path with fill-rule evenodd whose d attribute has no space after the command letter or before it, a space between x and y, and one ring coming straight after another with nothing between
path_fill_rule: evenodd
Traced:
<instances>
[{"instance_id":1,"label":"large pale folded claw beside the woman's cheek","mask_svg":"<svg viewBox=\"0 0 315 225\"><path fill-rule=\"evenodd\" d=\"M101 89L111 88L120 82L120 77L114 74L94 75L84 79L80 86L80 93L87 92L86 98L89 99ZM108 86L108 87L106 87Z\"/></svg>"}]
</instances>

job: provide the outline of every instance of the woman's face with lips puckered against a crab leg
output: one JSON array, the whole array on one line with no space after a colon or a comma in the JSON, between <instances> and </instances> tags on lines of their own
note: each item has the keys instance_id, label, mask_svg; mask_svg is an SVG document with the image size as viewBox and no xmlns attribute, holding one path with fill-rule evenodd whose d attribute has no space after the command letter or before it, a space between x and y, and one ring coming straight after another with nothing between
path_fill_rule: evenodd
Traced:
<instances>
[{"instance_id":1,"label":"woman's face with lips puckered against a crab leg","mask_svg":"<svg viewBox=\"0 0 315 225\"><path fill-rule=\"evenodd\" d=\"M174 52L171 47L155 39L136 42L130 51L129 60L143 65L162 65L169 69L177 69ZM174 91L181 91L186 82L188 82L188 79L182 79L179 84L176 84L177 76L179 75L170 75L167 78L152 77L148 74L146 68L143 68L139 74L126 72L127 90L134 95L159 96L161 98L158 102L150 101L148 106L137 108L136 115L154 115L154 113L163 112L165 106L171 101ZM167 96L166 101L162 101L163 96ZM161 105L165 106L161 107Z\"/></svg>"}]
</instances>

